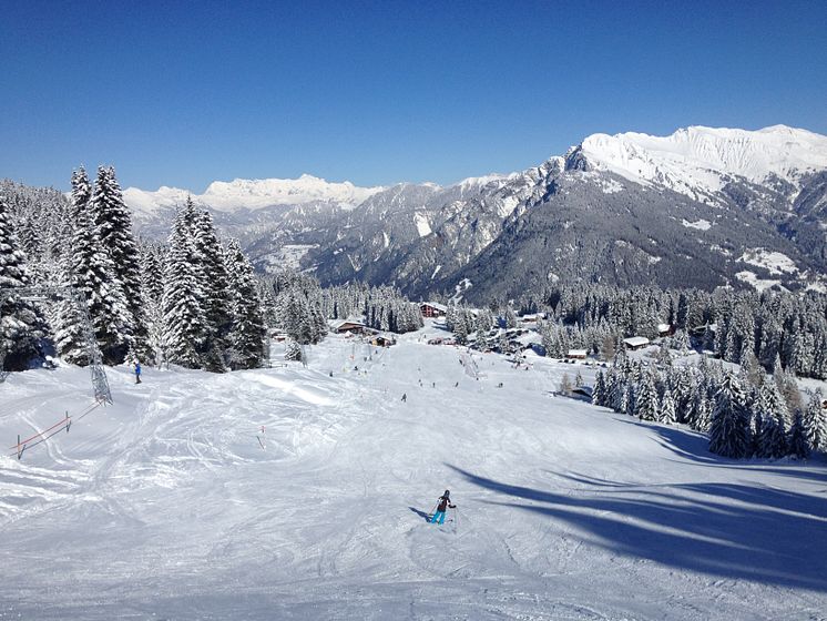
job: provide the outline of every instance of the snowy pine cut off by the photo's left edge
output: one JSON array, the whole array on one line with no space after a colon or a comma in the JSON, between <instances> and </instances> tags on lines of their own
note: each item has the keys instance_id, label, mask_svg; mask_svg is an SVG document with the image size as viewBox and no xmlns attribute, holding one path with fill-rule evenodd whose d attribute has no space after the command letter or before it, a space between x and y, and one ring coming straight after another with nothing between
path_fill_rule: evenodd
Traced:
<instances>
[{"instance_id":1,"label":"snowy pine cut off by the photo's left edge","mask_svg":"<svg viewBox=\"0 0 827 621\"><path fill-rule=\"evenodd\" d=\"M25 255L20 250L6 198L0 196L0 288L29 285ZM0 298L0 370L23 370L40 355L42 319L34 307L19 296Z\"/></svg>"}]
</instances>

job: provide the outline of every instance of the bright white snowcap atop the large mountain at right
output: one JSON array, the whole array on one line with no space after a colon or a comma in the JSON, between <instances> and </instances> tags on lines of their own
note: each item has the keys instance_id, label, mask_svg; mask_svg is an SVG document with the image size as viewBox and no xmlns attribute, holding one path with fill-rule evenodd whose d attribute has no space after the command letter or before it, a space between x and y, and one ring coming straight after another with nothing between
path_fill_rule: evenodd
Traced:
<instances>
[{"instance_id":1,"label":"bright white snowcap atop the large mountain at right","mask_svg":"<svg viewBox=\"0 0 827 621\"><path fill-rule=\"evenodd\" d=\"M786 125L757 131L698 125L668 136L598 133L582 150L598 170L694 198L698 190L721 190L732 175L760 183L775 174L794 182L804 172L827 169L827 136Z\"/></svg>"}]
</instances>

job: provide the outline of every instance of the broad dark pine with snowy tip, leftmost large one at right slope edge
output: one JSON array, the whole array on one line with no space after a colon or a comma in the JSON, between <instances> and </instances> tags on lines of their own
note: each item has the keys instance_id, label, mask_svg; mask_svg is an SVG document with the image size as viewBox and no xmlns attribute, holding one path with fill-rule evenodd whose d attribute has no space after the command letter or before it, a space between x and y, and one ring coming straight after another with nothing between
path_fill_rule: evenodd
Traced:
<instances>
[{"instance_id":1,"label":"broad dark pine with snowy tip, leftmost large one at right slope edge","mask_svg":"<svg viewBox=\"0 0 827 621\"><path fill-rule=\"evenodd\" d=\"M709 424L709 451L722 457L742 458L751 451L744 391L732 371L726 371L715 395Z\"/></svg>"}]
</instances>

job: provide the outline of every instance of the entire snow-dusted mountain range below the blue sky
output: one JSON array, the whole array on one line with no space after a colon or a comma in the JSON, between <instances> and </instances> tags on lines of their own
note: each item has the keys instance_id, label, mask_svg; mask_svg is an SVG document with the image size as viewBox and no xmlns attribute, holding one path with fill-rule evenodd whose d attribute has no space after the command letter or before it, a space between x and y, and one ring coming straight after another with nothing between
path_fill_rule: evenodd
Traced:
<instances>
[{"instance_id":1,"label":"entire snow-dusted mountain range below the blue sky","mask_svg":"<svg viewBox=\"0 0 827 621\"><path fill-rule=\"evenodd\" d=\"M124 191L165 234L186 191ZM827 136L775 125L593 134L509 175L450 186L215 182L196 202L256 265L414 297L472 284L478 301L558 279L827 291Z\"/></svg>"}]
</instances>

